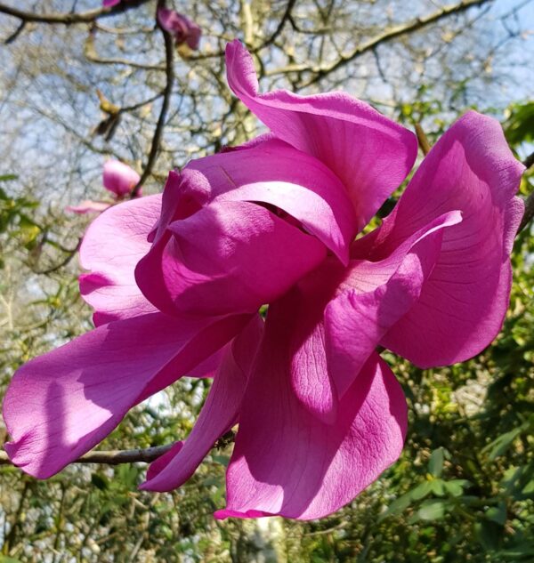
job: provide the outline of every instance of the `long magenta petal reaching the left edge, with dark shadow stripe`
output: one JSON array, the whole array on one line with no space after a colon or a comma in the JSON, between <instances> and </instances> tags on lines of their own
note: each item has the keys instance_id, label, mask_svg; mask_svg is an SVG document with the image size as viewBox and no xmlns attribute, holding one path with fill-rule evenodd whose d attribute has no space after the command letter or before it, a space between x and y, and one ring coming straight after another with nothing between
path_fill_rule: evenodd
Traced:
<instances>
[{"instance_id":1,"label":"long magenta petal reaching the left edge, with dark shadow stripe","mask_svg":"<svg viewBox=\"0 0 534 563\"><path fill-rule=\"evenodd\" d=\"M105 438L127 411L197 366L248 317L152 313L99 326L21 366L4 398L15 465L45 479Z\"/></svg>"}]
</instances>

